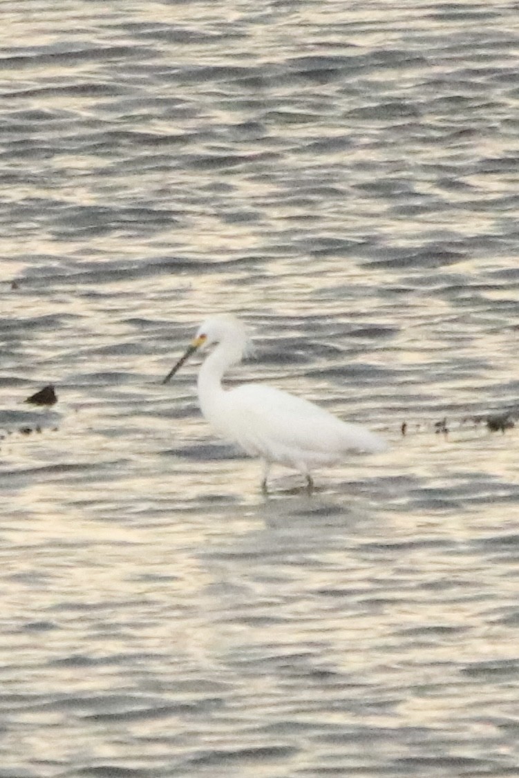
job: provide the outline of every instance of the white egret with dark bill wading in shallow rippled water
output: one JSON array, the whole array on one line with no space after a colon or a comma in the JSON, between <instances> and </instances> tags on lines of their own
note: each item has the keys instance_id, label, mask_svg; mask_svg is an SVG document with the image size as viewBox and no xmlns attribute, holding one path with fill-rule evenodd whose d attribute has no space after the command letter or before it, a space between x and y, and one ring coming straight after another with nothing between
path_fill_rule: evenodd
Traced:
<instances>
[{"instance_id":1,"label":"white egret with dark bill wading in shallow rippled water","mask_svg":"<svg viewBox=\"0 0 519 778\"><path fill-rule=\"evenodd\" d=\"M163 384L198 349L214 345L198 373L202 415L224 440L263 461L261 489L268 492L272 464L299 471L309 492L318 466L338 464L350 451L378 453L387 443L364 426L343 422L313 402L266 384L241 384L224 389L224 373L241 361L249 338L243 322L217 314L200 325L188 349L163 379Z\"/></svg>"}]
</instances>

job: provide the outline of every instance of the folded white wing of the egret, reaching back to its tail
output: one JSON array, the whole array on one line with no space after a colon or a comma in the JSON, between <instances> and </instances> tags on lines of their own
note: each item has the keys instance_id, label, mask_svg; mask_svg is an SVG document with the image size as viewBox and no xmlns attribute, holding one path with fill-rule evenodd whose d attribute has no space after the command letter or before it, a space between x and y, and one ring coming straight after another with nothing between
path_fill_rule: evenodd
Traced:
<instances>
[{"instance_id":1,"label":"folded white wing of the egret, reaching back to its tail","mask_svg":"<svg viewBox=\"0 0 519 778\"><path fill-rule=\"evenodd\" d=\"M303 398L261 384L227 392L230 433L250 453L308 452L329 456L347 450L381 451L384 441L358 424L342 422Z\"/></svg>"}]
</instances>

